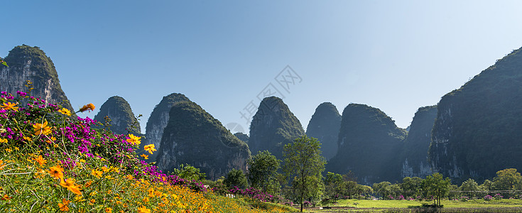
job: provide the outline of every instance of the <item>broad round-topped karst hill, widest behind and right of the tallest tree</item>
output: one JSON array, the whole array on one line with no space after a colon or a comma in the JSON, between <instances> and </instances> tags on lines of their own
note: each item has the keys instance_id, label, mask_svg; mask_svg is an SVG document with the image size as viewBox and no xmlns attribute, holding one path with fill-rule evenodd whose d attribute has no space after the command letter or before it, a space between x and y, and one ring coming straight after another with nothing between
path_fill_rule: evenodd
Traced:
<instances>
[{"instance_id":1,"label":"broad round-topped karst hill, widest behind and right of the tallest tree","mask_svg":"<svg viewBox=\"0 0 522 213\"><path fill-rule=\"evenodd\" d=\"M406 130L383 111L364 104L349 104L342 112L339 151L327 163L335 173L352 171L359 182L393 182L401 178L398 155Z\"/></svg>"}]
</instances>

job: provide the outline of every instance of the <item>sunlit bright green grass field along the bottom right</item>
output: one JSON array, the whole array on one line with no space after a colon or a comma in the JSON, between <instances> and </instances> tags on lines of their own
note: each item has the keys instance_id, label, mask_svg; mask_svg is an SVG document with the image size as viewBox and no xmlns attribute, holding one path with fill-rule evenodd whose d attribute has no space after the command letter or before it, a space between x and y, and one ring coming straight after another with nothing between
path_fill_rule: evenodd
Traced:
<instances>
[{"instance_id":1,"label":"sunlit bright green grass field along the bottom right","mask_svg":"<svg viewBox=\"0 0 522 213\"><path fill-rule=\"evenodd\" d=\"M354 203L357 203L357 207ZM307 212L522 212L522 200L469 200L466 202L445 200L441 209L422 207L433 202L409 200L339 200L326 207L310 208Z\"/></svg>"}]
</instances>

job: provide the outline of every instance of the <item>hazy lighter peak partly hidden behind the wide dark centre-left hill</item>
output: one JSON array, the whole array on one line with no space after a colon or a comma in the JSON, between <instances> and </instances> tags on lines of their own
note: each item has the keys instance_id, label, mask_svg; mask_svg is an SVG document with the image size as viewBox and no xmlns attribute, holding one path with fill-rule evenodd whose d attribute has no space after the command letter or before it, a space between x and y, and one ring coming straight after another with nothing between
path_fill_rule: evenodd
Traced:
<instances>
[{"instance_id":1,"label":"hazy lighter peak partly hidden behind the wide dark centre-left hill","mask_svg":"<svg viewBox=\"0 0 522 213\"><path fill-rule=\"evenodd\" d=\"M140 151L143 151L143 146L154 144L156 149L159 150L161 147L161 137L163 136L163 129L168 124L169 111L170 108L174 104L178 102L189 102L190 99L185 97L184 94L173 93L168 96L163 97L161 102L154 107L154 110L151 113L151 116L148 117L145 138L142 140L140 144ZM158 157L158 153L153 153L148 160L148 162L153 162Z\"/></svg>"}]
</instances>

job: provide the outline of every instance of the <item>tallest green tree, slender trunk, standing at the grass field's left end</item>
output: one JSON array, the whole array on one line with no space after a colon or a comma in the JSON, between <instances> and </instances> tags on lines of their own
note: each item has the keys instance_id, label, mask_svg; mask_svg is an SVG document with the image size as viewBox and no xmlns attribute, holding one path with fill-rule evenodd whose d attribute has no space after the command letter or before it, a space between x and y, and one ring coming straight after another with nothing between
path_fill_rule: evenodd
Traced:
<instances>
[{"instance_id":1,"label":"tallest green tree, slender trunk, standing at the grass field's left end","mask_svg":"<svg viewBox=\"0 0 522 213\"><path fill-rule=\"evenodd\" d=\"M303 212L305 198L317 197L322 190L322 171L326 160L321 155L321 143L316 138L303 136L283 147L283 172L295 190Z\"/></svg>"}]
</instances>

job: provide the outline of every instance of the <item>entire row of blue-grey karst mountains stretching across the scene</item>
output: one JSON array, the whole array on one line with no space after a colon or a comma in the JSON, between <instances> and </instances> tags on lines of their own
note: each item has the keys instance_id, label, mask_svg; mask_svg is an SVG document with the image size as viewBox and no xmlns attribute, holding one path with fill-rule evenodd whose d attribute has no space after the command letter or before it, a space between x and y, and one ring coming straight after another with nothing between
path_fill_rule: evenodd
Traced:
<instances>
[{"instance_id":1,"label":"entire row of blue-grey karst mountains stretching across the scene","mask_svg":"<svg viewBox=\"0 0 522 213\"><path fill-rule=\"evenodd\" d=\"M17 46L0 69L0 90L27 91L50 103L65 102L58 72L42 50ZM218 103L220 104L220 103ZM434 103L435 104L435 103ZM409 132L396 126L384 111L366 104L349 104L342 115L329 102L320 104L305 132L301 122L279 97L264 97L251 122L249 135L233 135L220 121L183 94L169 94L156 105L141 148L154 144L148 160L162 170L189 163L217 179L232 168L246 170L246 160L268 150L281 159L282 148L295 138L318 138L329 161L327 171L352 172L366 184L425 177L433 172L454 182L490 179L505 168L522 169L522 53L514 50L460 89L431 107L420 107ZM146 113L146 112L144 112ZM141 114L144 114L141 112ZM312 111L310 111L312 114ZM129 132L135 114L123 97L110 97L95 119L112 119L116 133ZM241 139L241 140L240 140Z\"/></svg>"}]
</instances>

